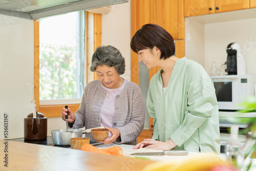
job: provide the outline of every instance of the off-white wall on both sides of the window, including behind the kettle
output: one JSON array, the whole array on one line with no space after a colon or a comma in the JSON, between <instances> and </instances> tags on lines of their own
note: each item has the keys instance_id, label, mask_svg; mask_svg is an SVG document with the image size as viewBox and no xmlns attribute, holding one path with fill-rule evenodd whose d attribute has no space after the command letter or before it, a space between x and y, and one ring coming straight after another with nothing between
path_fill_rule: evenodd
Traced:
<instances>
[{"instance_id":1,"label":"off-white wall on both sides of the window, including behind the kettle","mask_svg":"<svg viewBox=\"0 0 256 171\"><path fill-rule=\"evenodd\" d=\"M102 45L112 45L125 58L123 77L131 80L131 4L112 6L102 16ZM24 137L24 118L32 113L34 98L34 23L32 20L0 15L0 139L4 139L4 113L9 115L8 138ZM60 111L61 112L61 111ZM60 117L48 118L51 130L65 129Z\"/></svg>"}]
</instances>

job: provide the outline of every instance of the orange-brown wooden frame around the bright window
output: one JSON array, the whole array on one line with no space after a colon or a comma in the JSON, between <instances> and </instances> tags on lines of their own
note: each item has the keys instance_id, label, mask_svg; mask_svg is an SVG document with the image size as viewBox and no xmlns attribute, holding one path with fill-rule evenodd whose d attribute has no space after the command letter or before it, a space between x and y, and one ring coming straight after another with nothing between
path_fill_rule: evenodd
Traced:
<instances>
[{"instance_id":1,"label":"orange-brown wooden frame around the bright window","mask_svg":"<svg viewBox=\"0 0 256 171\"><path fill-rule=\"evenodd\" d=\"M86 15L88 15L90 12L86 12ZM98 46L101 46L101 19L102 19L102 14L96 14L93 13L93 26L94 26L94 46L93 49L95 49ZM86 27L88 27L88 20L86 19ZM87 30L87 29L86 29ZM86 31L86 36L88 37L88 32ZM88 38L86 42L86 56L88 56ZM90 61L85 60L87 62L87 67L88 63ZM86 72L88 75L88 71ZM96 79L97 77L94 77ZM90 80L87 80L87 83ZM51 117L61 117L61 109L63 108L63 104L53 104L53 105L40 105L40 100L39 100L39 20L34 20L34 100L36 101L36 106L38 108L39 106L39 112L44 114L45 117L51 118ZM69 108L72 111L76 111L80 103L75 103L75 104L67 104L69 105Z\"/></svg>"}]
</instances>

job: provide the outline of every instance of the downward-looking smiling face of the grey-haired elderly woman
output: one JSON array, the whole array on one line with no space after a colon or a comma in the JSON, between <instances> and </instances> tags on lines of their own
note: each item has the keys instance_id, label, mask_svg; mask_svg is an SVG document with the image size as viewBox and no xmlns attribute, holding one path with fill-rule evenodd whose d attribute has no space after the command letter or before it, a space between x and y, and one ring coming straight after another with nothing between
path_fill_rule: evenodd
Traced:
<instances>
[{"instance_id":1,"label":"downward-looking smiling face of the grey-haired elderly woman","mask_svg":"<svg viewBox=\"0 0 256 171\"><path fill-rule=\"evenodd\" d=\"M117 89L122 86L123 79L114 67L107 65L97 66L96 74L102 85L108 89Z\"/></svg>"}]
</instances>

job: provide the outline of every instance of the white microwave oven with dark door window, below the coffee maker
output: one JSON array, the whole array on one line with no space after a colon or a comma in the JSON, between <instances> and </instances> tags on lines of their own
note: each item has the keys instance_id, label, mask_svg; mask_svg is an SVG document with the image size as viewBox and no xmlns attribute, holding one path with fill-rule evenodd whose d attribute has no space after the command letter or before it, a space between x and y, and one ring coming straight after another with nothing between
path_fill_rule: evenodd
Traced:
<instances>
[{"instance_id":1,"label":"white microwave oven with dark door window, below the coffee maker","mask_svg":"<svg viewBox=\"0 0 256 171\"><path fill-rule=\"evenodd\" d=\"M256 75L210 76L214 81L219 110L242 110L247 96L255 96Z\"/></svg>"}]
</instances>

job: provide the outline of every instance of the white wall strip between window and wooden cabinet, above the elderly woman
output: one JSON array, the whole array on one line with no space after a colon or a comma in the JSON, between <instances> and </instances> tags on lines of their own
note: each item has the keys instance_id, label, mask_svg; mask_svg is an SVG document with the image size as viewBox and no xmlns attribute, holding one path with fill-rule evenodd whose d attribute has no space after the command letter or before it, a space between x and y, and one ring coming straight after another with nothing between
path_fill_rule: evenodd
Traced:
<instances>
[{"instance_id":1,"label":"white wall strip between window and wooden cabinet, above the elderly woman","mask_svg":"<svg viewBox=\"0 0 256 171\"><path fill-rule=\"evenodd\" d=\"M131 80L131 1L111 6L110 13L102 15L102 45L116 47L125 58L126 80Z\"/></svg>"}]
</instances>

